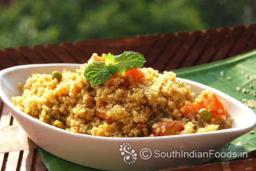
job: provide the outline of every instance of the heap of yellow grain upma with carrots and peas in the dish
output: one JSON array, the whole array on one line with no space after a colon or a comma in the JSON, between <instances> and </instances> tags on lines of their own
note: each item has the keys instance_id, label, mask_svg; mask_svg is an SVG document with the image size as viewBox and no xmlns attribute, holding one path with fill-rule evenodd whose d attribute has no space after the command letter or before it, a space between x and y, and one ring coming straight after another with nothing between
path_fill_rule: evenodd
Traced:
<instances>
[{"instance_id":1,"label":"heap of yellow grain upma with carrots and peas in the dish","mask_svg":"<svg viewBox=\"0 0 256 171\"><path fill-rule=\"evenodd\" d=\"M231 128L219 99L205 90L195 100L190 86L153 68L115 73L91 84L85 68L106 55L92 55L76 72L32 74L13 104L22 112L71 132L105 137L154 137ZM56 73L56 72L55 72ZM61 77L60 77L61 75Z\"/></svg>"}]
</instances>

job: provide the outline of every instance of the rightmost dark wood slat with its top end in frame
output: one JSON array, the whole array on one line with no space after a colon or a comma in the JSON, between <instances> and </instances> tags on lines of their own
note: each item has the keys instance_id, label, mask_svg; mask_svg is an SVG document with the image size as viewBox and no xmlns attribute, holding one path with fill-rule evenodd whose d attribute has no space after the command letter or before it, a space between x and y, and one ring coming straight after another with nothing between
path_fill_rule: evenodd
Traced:
<instances>
[{"instance_id":1,"label":"rightmost dark wood slat with its top end in frame","mask_svg":"<svg viewBox=\"0 0 256 171\"><path fill-rule=\"evenodd\" d=\"M222 41L219 50L217 51L216 55L212 58L212 62L225 59L228 56L228 53L230 53L234 44L241 37L245 29L246 28L244 25L234 27L229 36Z\"/></svg>"}]
</instances>

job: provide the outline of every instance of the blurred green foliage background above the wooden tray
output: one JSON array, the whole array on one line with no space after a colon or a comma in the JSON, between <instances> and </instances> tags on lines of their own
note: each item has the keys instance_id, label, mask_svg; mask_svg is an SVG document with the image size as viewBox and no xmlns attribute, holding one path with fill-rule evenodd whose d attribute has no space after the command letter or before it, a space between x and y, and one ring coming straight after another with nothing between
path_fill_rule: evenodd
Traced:
<instances>
[{"instance_id":1,"label":"blurred green foliage background above the wooden tray","mask_svg":"<svg viewBox=\"0 0 256 171\"><path fill-rule=\"evenodd\" d=\"M256 23L256 0L0 0L0 49Z\"/></svg>"}]
</instances>

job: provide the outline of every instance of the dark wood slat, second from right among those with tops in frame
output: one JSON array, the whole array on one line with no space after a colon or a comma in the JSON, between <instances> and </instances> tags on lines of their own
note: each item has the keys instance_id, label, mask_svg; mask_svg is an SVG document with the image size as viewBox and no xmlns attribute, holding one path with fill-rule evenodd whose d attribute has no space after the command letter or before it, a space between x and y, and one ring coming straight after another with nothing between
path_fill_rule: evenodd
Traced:
<instances>
[{"instance_id":1,"label":"dark wood slat, second from right among those with tops in frame","mask_svg":"<svg viewBox=\"0 0 256 171\"><path fill-rule=\"evenodd\" d=\"M198 59L196 65L206 64L211 61L214 54L217 52L221 41L227 37L231 32L230 27L224 27L213 36L212 40L208 44L206 50L203 52L203 55Z\"/></svg>"}]
</instances>

